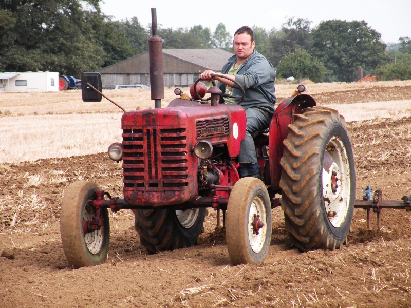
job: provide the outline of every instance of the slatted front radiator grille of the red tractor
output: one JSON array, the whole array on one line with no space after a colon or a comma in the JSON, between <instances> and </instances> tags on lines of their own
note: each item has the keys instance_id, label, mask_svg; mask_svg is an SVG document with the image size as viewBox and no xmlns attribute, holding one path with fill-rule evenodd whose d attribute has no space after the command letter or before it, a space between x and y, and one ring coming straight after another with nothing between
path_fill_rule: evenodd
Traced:
<instances>
[{"instance_id":1,"label":"slatted front radiator grille of the red tractor","mask_svg":"<svg viewBox=\"0 0 411 308\"><path fill-rule=\"evenodd\" d=\"M188 186L185 128L123 130L124 187L176 190Z\"/></svg>"}]
</instances>

